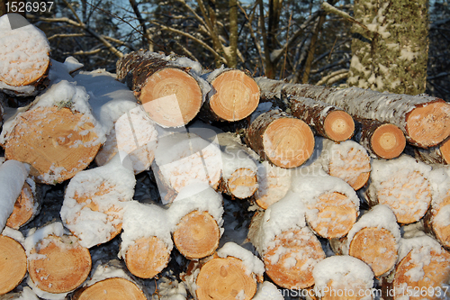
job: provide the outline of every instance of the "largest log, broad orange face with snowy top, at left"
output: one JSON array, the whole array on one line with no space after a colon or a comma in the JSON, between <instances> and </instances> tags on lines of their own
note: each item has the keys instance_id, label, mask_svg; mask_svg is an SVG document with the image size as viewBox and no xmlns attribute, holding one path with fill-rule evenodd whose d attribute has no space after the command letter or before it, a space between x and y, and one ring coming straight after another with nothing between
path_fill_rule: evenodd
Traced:
<instances>
[{"instance_id":1,"label":"largest log, broad orange face with snowy top, at left","mask_svg":"<svg viewBox=\"0 0 450 300\"><path fill-rule=\"evenodd\" d=\"M5 158L29 163L39 183L54 185L74 177L104 142L88 99L83 87L62 80L30 107L19 108L0 136Z\"/></svg>"}]
</instances>

